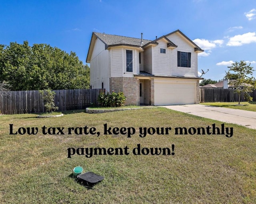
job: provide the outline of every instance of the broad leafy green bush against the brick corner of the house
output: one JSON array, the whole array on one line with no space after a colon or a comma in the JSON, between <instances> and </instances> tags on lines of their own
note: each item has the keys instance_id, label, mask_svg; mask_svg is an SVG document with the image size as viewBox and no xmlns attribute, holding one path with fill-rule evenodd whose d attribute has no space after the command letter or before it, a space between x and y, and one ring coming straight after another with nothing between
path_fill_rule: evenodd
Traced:
<instances>
[{"instance_id":1,"label":"broad leafy green bush against the brick corner of the house","mask_svg":"<svg viewBox=\"0 0 256 204\"><path fill-rule=\"evenodd\" d=\"M100 107L120 107L124 106L126 97L124 96L123 92L104 92L100 93L98 96L98 102Z\"/></svg>"}]
</instances>

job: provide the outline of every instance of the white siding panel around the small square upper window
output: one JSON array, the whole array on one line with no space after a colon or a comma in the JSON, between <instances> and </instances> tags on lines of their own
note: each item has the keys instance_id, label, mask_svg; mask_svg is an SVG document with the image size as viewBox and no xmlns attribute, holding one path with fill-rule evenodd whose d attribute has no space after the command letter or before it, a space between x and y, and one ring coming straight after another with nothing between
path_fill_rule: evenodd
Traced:
<instances>
[{"instance_id":1,"label":"white siding panel around the small square upper window","mask_svg":"<svg viewBox=\"0 0 256 204\"><path fill-rule=\"evenodd\" d=\"M160 53L160 48L166 50L166 53ZM167 49L167 43L164 40L159 40L158 45L153 47L153 75L171 75L170 70L170 49Z\"/></svg>"}]
</instances>

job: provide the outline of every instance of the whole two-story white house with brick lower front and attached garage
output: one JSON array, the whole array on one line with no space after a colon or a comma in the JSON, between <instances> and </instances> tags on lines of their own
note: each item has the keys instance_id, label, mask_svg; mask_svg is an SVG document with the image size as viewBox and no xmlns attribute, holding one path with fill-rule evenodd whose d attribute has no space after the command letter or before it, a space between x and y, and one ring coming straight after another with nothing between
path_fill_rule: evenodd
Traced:
<instances>
[{"instance_id":1,"label":"whole two-story white house with brick lower front and attached garage","mask_svg":"<svg viewBox=\"0 0 256 204\"><path fill-rule=\"evenodd\" d=\"M124 92L126 104L197 104L200 52L180 30L155 40L93 32L90 88Z\"/></svg>"}]
</instances>

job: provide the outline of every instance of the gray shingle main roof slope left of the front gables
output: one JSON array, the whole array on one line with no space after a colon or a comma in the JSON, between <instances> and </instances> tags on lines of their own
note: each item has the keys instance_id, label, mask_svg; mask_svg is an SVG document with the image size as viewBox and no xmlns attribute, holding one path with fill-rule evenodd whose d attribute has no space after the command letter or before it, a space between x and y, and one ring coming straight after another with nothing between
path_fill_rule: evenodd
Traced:
<instances>
[{"instance_id":1,"label":"gray shingle main roof slope left of the front gables","mask_svg":"<svg viewBox=\"0 0 256 204\"><path fill-rule=\"evenodd\" d=\"M94 32L95 35L99 39L101 39L106 45L133 45L133 46L140 46L140 38L133 38L133 37L124 37L120 35L109 35L109 34L104 34L104 33L96 33ZM147 43L151 42L151 40L145 40L143 39L143 45L146 45Z\"/></svg>"}]
</instances>

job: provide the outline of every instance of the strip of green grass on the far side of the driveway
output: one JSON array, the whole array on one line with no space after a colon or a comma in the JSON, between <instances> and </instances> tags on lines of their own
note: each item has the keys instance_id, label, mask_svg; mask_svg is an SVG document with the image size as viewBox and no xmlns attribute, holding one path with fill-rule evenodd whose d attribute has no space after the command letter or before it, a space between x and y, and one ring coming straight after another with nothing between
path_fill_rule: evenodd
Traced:
<instances>
[{"instance_id":1,"label":"strip of green grass on the far side of the driveway","mask_svg":"<svg viewBox=\"0 0 256 204\"><path fill-rule=\"evenodd\" d=\"M238 105L238 102L213 102L213 103L200 103L200 104L208 105L208 106L256 111L256 102L240 102L241 106Z\"/></svg>"}]
</instances>

